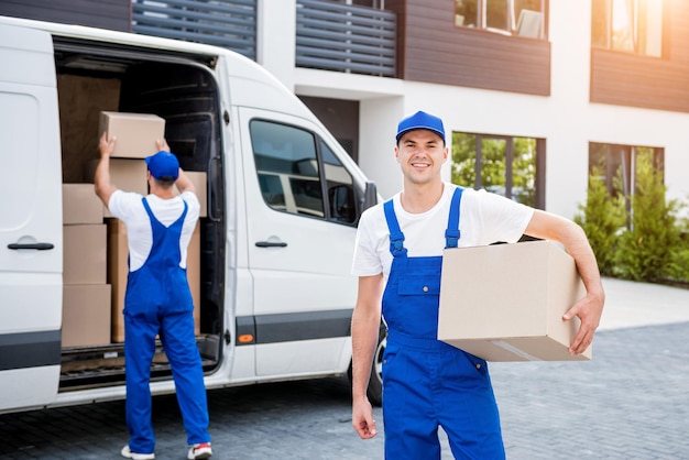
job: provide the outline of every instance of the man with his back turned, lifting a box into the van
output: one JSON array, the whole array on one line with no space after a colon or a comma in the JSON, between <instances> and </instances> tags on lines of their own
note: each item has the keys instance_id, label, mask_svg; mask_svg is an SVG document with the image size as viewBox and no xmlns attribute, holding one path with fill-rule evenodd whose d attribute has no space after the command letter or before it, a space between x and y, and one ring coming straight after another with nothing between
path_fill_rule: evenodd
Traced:
<instances>
[{"instance_id":1,"label":"man with his back turned, lifting a box into the van","mask_svg":"<svg viewBox=\"0 0 689 460\"><path fill-rule=\"evenodd\" d=\"M103 132L96 168L96 194L112 216L127 226L129 276L124 296L124 365L127 426L125 458L155 458L149 383L160 335L173 370L188 459L211 456L204 370L194 335L194 302L186 276L186 251L198 220L199 201L167 142L145 158L151 193L142 196L117 189L110 182L110 154L116 139ZM176 185L179 195L173 194Z\"/></svg>"}]
</instances>

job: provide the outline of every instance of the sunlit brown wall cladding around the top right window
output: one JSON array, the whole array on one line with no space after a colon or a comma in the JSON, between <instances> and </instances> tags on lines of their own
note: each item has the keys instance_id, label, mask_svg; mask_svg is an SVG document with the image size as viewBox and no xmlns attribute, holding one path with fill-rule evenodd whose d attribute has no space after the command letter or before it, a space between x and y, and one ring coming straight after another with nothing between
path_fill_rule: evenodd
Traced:
<instances>
[{"instance_id":1,"label":"sunlit brown wall cladding around the top right window","mask_svg":"<svg viewBox=\"0 0 689 460\"><path fill-rule=\"evenodd\" d=\"M689 2L664 7L664 57L591 50L591 102L689 112Z\"/></svg>"}]
</instances>

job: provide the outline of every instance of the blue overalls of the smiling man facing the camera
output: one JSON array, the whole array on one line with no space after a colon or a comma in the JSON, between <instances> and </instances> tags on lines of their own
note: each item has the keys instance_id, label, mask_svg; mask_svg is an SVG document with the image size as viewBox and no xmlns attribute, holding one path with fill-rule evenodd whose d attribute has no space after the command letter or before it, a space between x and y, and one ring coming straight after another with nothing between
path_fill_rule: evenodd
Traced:
<instances>
[{"instance_id":1,"label":"blue overalls of the smiling man facing the camera","mask_svg":"<svg viewBox=\"0 0 689 460\"><path fill-rule=\"evenodd\" d=\"M446 248L459 240L461 193L452 196ZM383 293L385 458L440 459L442 426L455 458L504 459L485 361L437 340L442 256L407 258L392 200L384 210L393 254Z\"/></svg>"}]
</instances>

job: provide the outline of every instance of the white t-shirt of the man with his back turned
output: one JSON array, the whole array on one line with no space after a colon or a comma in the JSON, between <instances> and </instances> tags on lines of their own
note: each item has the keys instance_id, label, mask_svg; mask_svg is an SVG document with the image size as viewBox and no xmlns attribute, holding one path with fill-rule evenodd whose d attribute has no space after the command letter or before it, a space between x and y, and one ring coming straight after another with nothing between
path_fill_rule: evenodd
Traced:
<instances>
[{"instance_id":1,"label":"white t-shirt of the man with his back turned","mask_svg":"<svg viewBox=\"0 0 689 460\"><path fill-rule=\"evenodd\" d=\"M151 219L143 207L143 202L141 202L142 198L142 195L133 191L117 190L110 196L110 201L108 202L110 213L122 220L127 226L130 272L141 269L149 258L151 247L153 245ZM201 207L198 198L194 193L185 191L171 199L163 199L155 195L149 195L146 199L155 218L165 227L169 227L182 216L184 211L183 200L187 202L187 215L184 218L179 238L179 253L182 255L179 266L186 269L187 247L196 228Z\"/></svg>"}]
</instances>

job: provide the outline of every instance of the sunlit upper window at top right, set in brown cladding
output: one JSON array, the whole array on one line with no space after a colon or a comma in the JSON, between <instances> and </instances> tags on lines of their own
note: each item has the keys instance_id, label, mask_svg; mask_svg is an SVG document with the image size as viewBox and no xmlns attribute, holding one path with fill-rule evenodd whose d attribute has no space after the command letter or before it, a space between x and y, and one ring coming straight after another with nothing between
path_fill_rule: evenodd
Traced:
<instances>
[{"instance_id":1,"label":"sunlit upper window at top right, set in brown cladding","mask_svg":"<svg viewBox=\"0 0 689 460\"><path fill-rule=\"evenodd\" d=\"M593 0L592 46L663 56L661 0Z\"/></svg>"}]
</instances>

